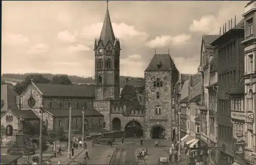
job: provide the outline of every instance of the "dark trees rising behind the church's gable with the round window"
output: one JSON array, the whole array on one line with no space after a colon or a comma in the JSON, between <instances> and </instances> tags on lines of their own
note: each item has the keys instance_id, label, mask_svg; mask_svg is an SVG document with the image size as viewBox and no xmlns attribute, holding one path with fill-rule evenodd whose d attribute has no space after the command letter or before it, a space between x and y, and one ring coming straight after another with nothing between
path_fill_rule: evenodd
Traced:
<instances>
[{"instance_id":1,"label":"dark trees rising behind the church's gable with the round window","mask_svg":"<svg viewBox=\"0 0 256 165\"><path fill-rule=\"evenodd\" d=\"M25 80L23 80L20 83L17 83L14 86L14 91L19 95L22 94L26 90L28 85L30 84L32 78L33 78L34 83L46 83L47 84L50 82L50 80L48 78L42 76L41 74L27 75L25 77Z\"/></svg>"}]
</instances>

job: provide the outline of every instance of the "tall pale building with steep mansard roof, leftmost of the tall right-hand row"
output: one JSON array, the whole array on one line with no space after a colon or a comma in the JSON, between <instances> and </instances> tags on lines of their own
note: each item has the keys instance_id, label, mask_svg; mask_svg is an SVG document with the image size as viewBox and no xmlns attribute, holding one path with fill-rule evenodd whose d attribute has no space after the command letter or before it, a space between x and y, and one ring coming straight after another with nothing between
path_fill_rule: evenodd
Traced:
<instances>
[{"instance_id":1,"label":"tall pale building with steep mansard roof, leftmost of the tall right-hand row","mask_svg":"<svg viewBox=\"0 0 256 165\"><path fill-rule=\"evenodd\" d=\"M214 57L215 46L211 42L215 41L219 35L203 35L201 42L201 61L199 71L201 72L201 103L200 103L200 141L201 146L208 146L209 138L209 93L210 81L209 62Z\"/></svg>"}]
</instances>

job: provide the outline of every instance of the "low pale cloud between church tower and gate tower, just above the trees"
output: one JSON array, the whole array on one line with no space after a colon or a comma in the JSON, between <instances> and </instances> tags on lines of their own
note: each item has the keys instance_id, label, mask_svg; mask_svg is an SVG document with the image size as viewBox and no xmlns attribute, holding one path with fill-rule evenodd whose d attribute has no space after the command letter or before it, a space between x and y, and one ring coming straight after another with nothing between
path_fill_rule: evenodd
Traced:
<instances>
[{"instance_id":1,"label":"low pale cloud between church tower and gate tower, just above the trees","mask_svg":"<svg viewBox=\"0 0 256 165\"><path fill-rule=\"evenodd\" d=\"M120 74L144 77L146 63L144 63L139 54L133 54L126 59L120 59Z\"/></svg>"}]
</instances>

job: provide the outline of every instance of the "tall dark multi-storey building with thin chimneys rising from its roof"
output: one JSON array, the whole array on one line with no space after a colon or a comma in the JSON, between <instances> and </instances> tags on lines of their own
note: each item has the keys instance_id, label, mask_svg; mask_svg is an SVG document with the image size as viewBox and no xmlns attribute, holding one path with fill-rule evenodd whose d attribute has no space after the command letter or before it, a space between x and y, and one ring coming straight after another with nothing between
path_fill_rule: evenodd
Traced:
<instances>
[{"instance_id":1,"label":"tall dark multi-storey building with thin chimneys rising from its roof","mask_svg":"<svg viewBox=\"0 0 256 165\"><path fill-rule=\"evenodd\" d=\"M244 20L238 24L236 19L234 22L234 26L231 23L231 28L227 32L224 30L223 35L211 43L218 51L218 146L225 148L219 152L219 163L234 161L233 137L236 134L233 134L234 125L231 123L231 99L240 99L243 93L244 46L241 42L244 39ZM239 123L242 124L241 121Z\"/></svg>"}]
</instances>

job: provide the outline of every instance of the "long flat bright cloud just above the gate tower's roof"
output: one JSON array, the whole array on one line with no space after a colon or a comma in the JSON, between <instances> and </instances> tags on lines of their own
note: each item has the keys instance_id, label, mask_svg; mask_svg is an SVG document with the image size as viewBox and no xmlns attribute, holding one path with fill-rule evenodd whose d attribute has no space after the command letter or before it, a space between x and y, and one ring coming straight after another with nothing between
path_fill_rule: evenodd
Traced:
<instances>
[{"instance_id":1,"label":"long flat bright cloud just above the gate tower's roof","mask_svg":"<svg viewBox=\"0 0 256 165\"><path fill-rule=\"evenodd\" d=\"M147 43L149 47L164 47L168 45L179 46L184 45L190 41L191 36L186 34L181 34L177 36L160 36L156 37Z\"/></svg>"}]
</instances>

